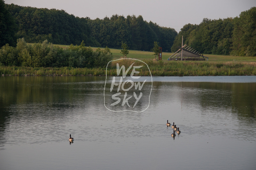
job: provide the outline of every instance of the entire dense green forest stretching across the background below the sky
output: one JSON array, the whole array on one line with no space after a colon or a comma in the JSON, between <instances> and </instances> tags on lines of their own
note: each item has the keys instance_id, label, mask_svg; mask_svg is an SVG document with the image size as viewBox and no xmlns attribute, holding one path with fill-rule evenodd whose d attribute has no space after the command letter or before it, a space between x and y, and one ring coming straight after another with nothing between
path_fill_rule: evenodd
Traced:
<instances>
[{"instance_id":1,"label":"entire dense green forest stretching across the background below the sky","mask_svg":"<svg viewBox=\"0 0 256 170\"><path fill-rule=\"evenodd\" d=\"M28 43L83 44L93 47L150 51L159 42L163 51L175 52L184 44L203 54L256 56L256 7L241 12L239 17L203 19L188 23L177 33L157 23L147 22L141 15L113 15L110 18L75 17L64 10L22 7L0 0L0 47L15 47L17 39Z\"/></svg>"}]
</instances>

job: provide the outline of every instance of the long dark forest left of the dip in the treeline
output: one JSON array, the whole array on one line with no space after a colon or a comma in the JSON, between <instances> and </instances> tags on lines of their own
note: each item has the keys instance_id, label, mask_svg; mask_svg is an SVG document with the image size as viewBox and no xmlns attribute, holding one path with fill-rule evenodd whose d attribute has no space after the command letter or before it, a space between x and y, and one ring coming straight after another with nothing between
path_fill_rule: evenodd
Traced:
<instances>
[{"instance_id":1,"label":"long dark forest left of the dip in the treeline","mask_svg":"<svg viewBox=\"0 0 256 170\"><path fill-rule=\"evenodd\" d=\"M17 38L26 42L39 43L48 40L53 44L80 44L86 46L121 48L126 43L131 50L150 51L154 41L163 50L171 51L177 32L173 28L160 27L146 22L142 16L113 15L94 20L79 18L64 10L22 7L6 4L7 10L15 18Z\"/></svg>"}]
</instances>

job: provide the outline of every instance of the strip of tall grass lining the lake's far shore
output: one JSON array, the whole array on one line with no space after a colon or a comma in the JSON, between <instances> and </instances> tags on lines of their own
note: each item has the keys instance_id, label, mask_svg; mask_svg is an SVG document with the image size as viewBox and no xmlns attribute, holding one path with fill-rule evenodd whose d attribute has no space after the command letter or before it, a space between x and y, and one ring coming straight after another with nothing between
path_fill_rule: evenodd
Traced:
<instances>
[{"instance_id":1,"label":"strip of tall grass lining the lake's far shore","mask_svg":"<svg viewBox=\"0 0 256 170\"><path fill-rule=\"evenodd\" d=\"M152 76L236 76L256 75L256 62L239 61L153 61L143 59L149 66ZM119 65L128 68L134 60L118 61ZM137 61L136 61L137 62ZM112 62L107 69L107 75L116 76L116 63ZM139 65L140 63L138 63ZM147 67L142 67L138 75L150 76ZM131 72L131 71L130 71ZM31 68L17 66L0 66L1 75L52 75L52 76L104 76L106 68ZM129 73L128 73L129 75Z\"/></svg>"}]
</instances>

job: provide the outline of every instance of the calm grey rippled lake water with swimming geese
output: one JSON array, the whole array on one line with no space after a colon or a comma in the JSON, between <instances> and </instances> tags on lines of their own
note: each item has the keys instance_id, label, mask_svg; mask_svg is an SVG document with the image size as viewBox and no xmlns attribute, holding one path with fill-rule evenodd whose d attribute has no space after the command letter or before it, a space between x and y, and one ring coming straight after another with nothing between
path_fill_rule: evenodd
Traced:
<instances>
[{"instance_id":1,"label":"calm grey rippled lake water with swimming geese","mask_svg":"<svg viewBox=\"0 0 256 170\"><path fill-rule=\"evenodd\" d=\"M256 76L153 77L143 112L108 110L105 79L0 77L0 169L255 170Z\"/></svg>"}]
</instances>

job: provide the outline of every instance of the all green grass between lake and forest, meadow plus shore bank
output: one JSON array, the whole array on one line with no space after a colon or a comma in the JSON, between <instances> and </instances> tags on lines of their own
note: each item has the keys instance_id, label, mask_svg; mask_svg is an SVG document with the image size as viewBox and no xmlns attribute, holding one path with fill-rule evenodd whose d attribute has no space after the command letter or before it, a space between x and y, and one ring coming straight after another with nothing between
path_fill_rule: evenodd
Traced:
<instances>
[{"instance_id":1,"label":"all green grass between lake and forest, meadow plus shore bank","mask_svg":"<svg viewBox=\"0 0 256 170\"><path fill-rule=\"evenodd\" d=\"M66 45L54 45L68 48ZM97 47L91 47L96 50ZM121 49L112 49L114 59L122 58ZM153 52L129 50L127 58L140 59L147 63L153 76L235 76L256 75L256 57L237 57L205 54L208 61L168 61L173 53L163 53L162 61L154 61ZM116 62L112 62L107 75L116 76ZM120 61L118 61L120 64ZM128 68L132 60L122 60L121 64ZM143 67L138 75L149 76L147 67ZM106 68L28 68L16 66L0 66L1 75L53 75L53 76L103 76ZM129 73L128 73L129 74Z\"/></svg>"}]
</instances>

